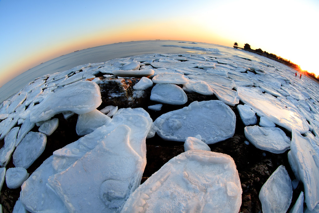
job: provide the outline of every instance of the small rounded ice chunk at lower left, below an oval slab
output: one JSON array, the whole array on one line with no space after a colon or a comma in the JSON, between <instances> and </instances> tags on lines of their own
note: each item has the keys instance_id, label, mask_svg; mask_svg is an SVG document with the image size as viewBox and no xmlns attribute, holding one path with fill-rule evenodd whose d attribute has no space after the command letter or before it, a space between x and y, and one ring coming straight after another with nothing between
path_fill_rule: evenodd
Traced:
<instances>
[{"instance_id":1,"label":"small rounded ice chunk at lower left, below an oval slab","mask_svg":"<svg viewBox=\"0 0 319 213\"><path fill-rule=\"evenodd\" d=\"M25 168L14 167L9 168L5 173L5 183L9 189L16 189L22 185L22 183L28 179L29 173Z\"/></svg>"}]
</instances>

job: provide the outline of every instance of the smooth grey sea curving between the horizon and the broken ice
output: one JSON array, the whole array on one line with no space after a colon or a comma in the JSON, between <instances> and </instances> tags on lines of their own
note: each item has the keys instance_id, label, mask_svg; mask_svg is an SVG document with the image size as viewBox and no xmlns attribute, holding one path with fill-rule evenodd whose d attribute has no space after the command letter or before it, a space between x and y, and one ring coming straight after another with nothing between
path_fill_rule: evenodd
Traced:
<instances>
[{"instance_id":1,"label":"smooth grey sea curving between the horizon and the broken ice","mask_svg":"<svg viewBox=\"0 0 319 213\"><path fill-rule=\"evenodd\" d=\"M17 77L15 77L14 79L10 80L2 87L0 87L0 103L2 103L11 95L17 93L20 89L25 87L30 81L37 77L46 74L52 74L55 72L63 72L78 65L84 65L87 63L92 64L96 62L108 61L114 58L130 57L148 53L203 54L209 52L205 51L204 48L220 48L221 51L228 53L230 55L239 54L239 51L236 51L233 48L226 46L203 42L196 42L196 44L194 44L194 42L180 42L181 41L164 40L120 42L98 47L92 47L88 49L82 49L76 52L69 53L67 55L54 58L50 61L35 66L27 70L26 72L23 72L22 74L18 75ZM184 47L192 46L198 47L199 49L185 49L169 45ZM200 48L203 48L203 50L200 50ZM251 57L251 55L245 53L244 51L241 51L240 55L247 58Z\"/></svg>"}]
</instances>

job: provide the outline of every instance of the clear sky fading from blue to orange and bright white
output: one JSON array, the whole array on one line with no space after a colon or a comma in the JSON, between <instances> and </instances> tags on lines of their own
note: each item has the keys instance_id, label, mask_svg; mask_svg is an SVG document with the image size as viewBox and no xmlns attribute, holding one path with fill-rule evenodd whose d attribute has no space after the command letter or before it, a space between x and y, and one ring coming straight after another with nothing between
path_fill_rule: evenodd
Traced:
<instances>
[{"instance_id":1,"label":"clear sky fading from blue to orange and bright white","mask_svg":"<svg viewBox=\"0 0 319 213\"><path fill-rule=\"evenodd\" d=\"M0 86L79 49L183 40L252 49L319 75L318 0L0 0Z\"/></svg>"}]
</instances>

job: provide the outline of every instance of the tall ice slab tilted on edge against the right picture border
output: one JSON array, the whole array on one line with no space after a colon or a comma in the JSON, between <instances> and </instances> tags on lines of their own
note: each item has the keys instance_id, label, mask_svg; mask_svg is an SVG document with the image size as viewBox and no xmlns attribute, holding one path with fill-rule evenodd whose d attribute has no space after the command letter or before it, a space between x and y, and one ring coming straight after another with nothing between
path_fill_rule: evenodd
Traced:
<instances>
[{"instance_id":1,"label":"tall ice slab tilted on edge against the right picture border","mask_svg":"<svg viewBox=\"0 0 319 213\"><path fill-rule=\"evenodd\" d=\"M305 202L312 210L319 202L319 148L311 139L293 130L290 150L289 164L303 183Z\"/></svg>"}]
</instances>

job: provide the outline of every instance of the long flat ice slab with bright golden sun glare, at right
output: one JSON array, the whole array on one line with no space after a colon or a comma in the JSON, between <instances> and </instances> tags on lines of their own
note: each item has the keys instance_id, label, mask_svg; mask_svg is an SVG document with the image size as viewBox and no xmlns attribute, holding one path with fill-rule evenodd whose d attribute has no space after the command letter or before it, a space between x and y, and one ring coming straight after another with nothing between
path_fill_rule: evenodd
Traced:
<instances>
[{"instance_id":1,"label":"long flat ice slab with bright golden sun glare, at right","mask_svg":"<svg viewBox=\"0 0 319 213\"><path fill-rule=\"evenodd\" d=\"M298 113L282 107L278 100L269 99L265 95L256 93L249 87L238 87L237 92L240 100L249 105L260 116L266 116L275 124L289 131L296 129L300 133L306 133L309 128L307 121Z\"/></svg>"}]
</instances>

